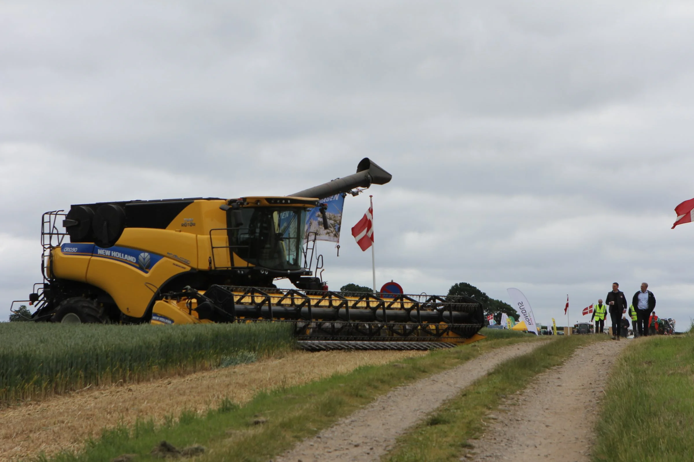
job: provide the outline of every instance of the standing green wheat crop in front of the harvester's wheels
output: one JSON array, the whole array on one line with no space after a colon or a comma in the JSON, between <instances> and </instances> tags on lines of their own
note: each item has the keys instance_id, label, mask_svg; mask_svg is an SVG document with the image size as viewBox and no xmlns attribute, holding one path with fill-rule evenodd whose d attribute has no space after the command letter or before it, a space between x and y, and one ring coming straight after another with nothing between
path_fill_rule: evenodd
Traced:
<instances>
[{"instance_id":1,"label":"standing green wheat crop in front of the harvester's wheels","mask_svg":"<svg viewBox=\"0 0 694 462\"><path fill-rule=\"evenodd\" d=\"M0 405L248 362L294 345L288 323L0 323Z\"/></svg>"}]
</instances>

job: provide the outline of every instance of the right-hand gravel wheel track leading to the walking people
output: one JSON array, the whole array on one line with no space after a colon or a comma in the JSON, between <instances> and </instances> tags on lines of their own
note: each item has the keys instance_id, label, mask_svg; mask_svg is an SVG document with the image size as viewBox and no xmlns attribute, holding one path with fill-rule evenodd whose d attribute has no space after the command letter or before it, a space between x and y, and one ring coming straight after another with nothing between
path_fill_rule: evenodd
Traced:
<instances>
[{"instance_id":1,"label":"right-hand gravel wheel track leading to the walking people","mask_svg":"<svg viewBox=\"0 0 694 462\"><path fill-rule=\"evenodd\" d=\"M473 460L590 461L607 375L631 341L600 341L578 348L564 364L538 375L500 412L483 420L489 429L480 441L471 441L477 452Z\"/></svg>"}]
</instances>

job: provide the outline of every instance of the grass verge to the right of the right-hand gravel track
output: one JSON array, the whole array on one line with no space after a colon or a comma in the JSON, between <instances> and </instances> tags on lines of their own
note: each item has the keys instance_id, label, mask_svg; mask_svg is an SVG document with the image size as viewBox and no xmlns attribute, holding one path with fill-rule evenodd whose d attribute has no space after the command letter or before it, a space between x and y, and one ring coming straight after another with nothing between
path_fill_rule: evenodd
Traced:
<instances>
[{"instance_id":1,"label":"grass verge to the right of the right-hand gravel track","mask_svg":"<svg viewBox=\"0 0 694 462\"><path fill-rule=\"evenodd\" d=\"M594 461L694 460L694 335L634 341L605 392Z\"/></svg>"}]
</instances>

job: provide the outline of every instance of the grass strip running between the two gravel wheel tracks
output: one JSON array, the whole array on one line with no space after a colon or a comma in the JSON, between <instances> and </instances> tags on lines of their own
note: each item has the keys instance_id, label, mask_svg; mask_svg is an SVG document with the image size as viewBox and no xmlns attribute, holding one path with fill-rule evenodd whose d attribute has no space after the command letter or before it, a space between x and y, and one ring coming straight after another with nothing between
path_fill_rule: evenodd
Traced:
<instances>
[{"instance_id":1,"label":"grass strip running between the two gravel wheel tracks","mask_svg":"<svg viewBox=\"0 0 694 462\"><path fill-rule=\"evenodd\" d=\"M400 436L383 462L459 461L473 451L470 440L484 432L484 415L500 401L521 391L535 375L563 363L579 346L604 341L606 336L558 337L535 350L499 364L491 373L444 403L428 419ZM635 459L634 459L635 460Z\"/></svg>"}]
</instances>

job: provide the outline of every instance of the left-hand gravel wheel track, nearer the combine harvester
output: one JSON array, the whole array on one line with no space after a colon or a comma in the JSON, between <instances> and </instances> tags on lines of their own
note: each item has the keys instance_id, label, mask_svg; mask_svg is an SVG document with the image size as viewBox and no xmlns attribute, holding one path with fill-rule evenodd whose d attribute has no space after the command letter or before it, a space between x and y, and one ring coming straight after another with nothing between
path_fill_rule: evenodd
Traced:
<instances>
[{"instance_id":1,"label":"left-hand gravel wheel track, nearer the combine harvester","mask_svg":"<svg viewBox=\"0 0 694 462\"><path fill-rule=\"evenodd\" d=\"M448 371L393 389L274 460L378 461L398 436L444 401L501 362L524 355L543 343L534 341L497 348Z\"/></svg>"}]
</instances>

